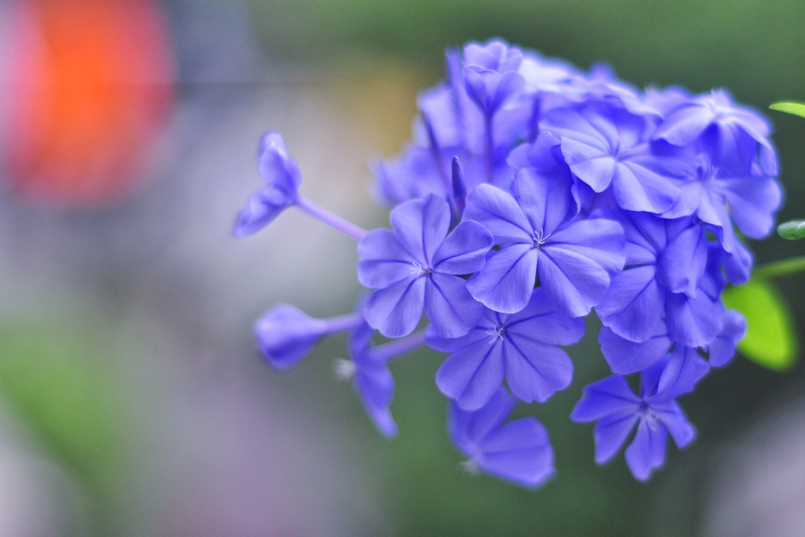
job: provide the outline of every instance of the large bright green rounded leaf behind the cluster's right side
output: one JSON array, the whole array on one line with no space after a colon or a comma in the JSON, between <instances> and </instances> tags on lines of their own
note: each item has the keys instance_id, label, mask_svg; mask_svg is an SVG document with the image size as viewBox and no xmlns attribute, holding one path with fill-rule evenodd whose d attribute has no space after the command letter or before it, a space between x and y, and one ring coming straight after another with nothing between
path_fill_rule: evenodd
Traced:
<instances>
[{"instance_id":1,"label":"large bright green rounded leaf behind the cluster's right side","mask_svg":"<svg viewBox=\"0 0 805 537\"><path fill-rule=\"evenodd\" d=\"M722 295L727 308L746 317L746 335L738 352L759 366L782 371L794 365L797 341L794 323L775 287L764 280L752 280L730 287Z\"/></svg>"}]
</instances>

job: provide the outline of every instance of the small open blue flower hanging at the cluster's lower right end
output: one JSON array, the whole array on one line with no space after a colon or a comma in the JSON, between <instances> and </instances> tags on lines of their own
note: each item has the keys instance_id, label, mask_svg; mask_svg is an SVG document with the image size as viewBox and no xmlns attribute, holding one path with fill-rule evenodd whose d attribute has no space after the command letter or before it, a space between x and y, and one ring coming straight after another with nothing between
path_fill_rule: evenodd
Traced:
<instances>
[{"instance_id":1,"label":"small open blue flower hanging at the cluster's lower right end","mask_svg":"<svg viewBox=\"0 0 805 537\"><path fill-rule=\"evenodd\" d=\"M663 465L668 433L679 448L696 436L696 430L687 422L673 396L657 393L652 384L652 379L644 376L638 397L623 377L613 375L593 382L584 388L570 416L574 421L597 421L593 437L598 464L609 461L637 425L638 432L625 456L634 477L641 481Z\"/></svg>"}]
</instances>

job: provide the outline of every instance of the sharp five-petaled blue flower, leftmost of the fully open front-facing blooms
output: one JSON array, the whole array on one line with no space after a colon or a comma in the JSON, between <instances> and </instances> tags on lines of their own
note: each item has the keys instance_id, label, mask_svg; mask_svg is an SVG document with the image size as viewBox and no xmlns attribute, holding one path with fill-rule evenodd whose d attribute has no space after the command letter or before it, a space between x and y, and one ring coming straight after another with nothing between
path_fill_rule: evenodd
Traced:
<instances>
[{"instance_id":1,"label":"sharp five-petaled blue flower, leftmost of the fully open front-facing blooms","mask_svg":"<svg viewBox=\"0 0 805 537\"><path fill-rule=\"evenodd\" d=\"M398 205L390 218L394 231L376 229L358 244L358 279L377 288L366 301L366 320L386 337L401 337L416 328L424 309L441 336L463 336L483 307L459 275L484 265L492 236L473 221L448 236L450 208L434 195Z\"/></svg>"}]
</instances>

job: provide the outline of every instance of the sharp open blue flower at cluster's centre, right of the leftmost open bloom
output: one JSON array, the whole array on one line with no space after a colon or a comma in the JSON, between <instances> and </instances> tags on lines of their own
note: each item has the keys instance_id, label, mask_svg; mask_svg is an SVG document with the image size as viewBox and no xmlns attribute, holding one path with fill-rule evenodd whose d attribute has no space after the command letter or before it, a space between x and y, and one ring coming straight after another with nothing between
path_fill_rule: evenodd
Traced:
<instances>
[{"instance_id":1,"label":"sharp open blue flower at cluster's centre, right of the leftmost open bloom","mask_svg":"<svg viewBox=\"0 0 805 537\"><path fill-rule=\"evenodd\" d=\"M538 153L550 151L546 141L538 138ZM469 279L475 299L497 312L518 312L539 274L547 299L564 315L586 315L601 300L623 266L623 231L615 221L576 218L574 187L567 171L538 163L518 171L514 196L486 184L469 195L464 218L489 229L502 246Z\"/></svg>"}]
</instances>

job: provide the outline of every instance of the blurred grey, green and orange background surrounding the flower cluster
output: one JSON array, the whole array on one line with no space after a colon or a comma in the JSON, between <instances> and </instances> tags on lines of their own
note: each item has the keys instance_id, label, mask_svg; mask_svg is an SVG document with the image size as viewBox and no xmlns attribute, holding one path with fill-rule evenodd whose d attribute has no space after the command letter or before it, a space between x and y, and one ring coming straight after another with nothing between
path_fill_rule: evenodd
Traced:
<instances>
[{"instance_id":1,"label":"blurred grey, green and orange background surrounding the flower cluster","mask_svg":"<svg viewBox=\"0 0 805 537\"><path fill-rule=\"evenodd\" d=\"M367 163L409 136L443 51L500 36L638 86L805 100L801 0L0 0L0 535L805 535L805 368L737 357L682 400L699 436L634 481L568 415L609 374L597 320L572 386L523 407L556 476L464 473L433 382L394 362L383 440L325 341L270 370L270 304L350 308L353 242L287 211L233 221L281 131L303 192L385 225ZM805 209L805 122L771 112L786 204ZM759 262L805 254L772 237ZM802 279L778 280L805 326Z\"/></svg>"}]
</instances>

